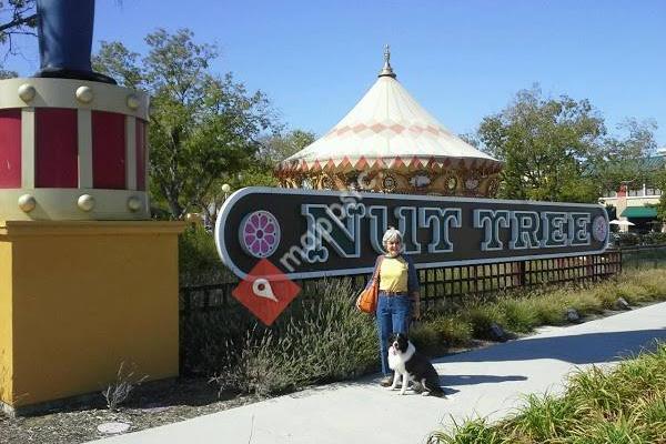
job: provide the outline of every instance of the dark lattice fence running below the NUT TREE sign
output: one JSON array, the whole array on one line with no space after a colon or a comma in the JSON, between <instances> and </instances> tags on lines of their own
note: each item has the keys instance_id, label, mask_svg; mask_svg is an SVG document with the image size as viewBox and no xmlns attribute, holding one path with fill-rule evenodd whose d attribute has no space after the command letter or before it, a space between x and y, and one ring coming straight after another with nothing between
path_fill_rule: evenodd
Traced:
<instances>
[{"instance_id":1,"label":"dark lattice fence running below the NUT TREE sign","mask_svg":"<svg viewBox=\"0 0 666 444\"><path fill-rule=\"evenodd\" d=\"M595 282L622 271L622 254L620 250L610 250L602 254L573 258L420 270L421 300L423 306L427 309L435 304L453 302L464 295L485 296L512 289L531 289L565 282ZM327 281L333 284L336 279L352 279L352 287L361 290L369 278L370 275L329 278ZM307 293L307 289L316 281L316 279L301 280L296 283L301 285L304 293ZM188 317L193 312L224 310L229 306L231 292L238 283L236 281L182 287L181 316Z\"/></svg>"}]
</instances>

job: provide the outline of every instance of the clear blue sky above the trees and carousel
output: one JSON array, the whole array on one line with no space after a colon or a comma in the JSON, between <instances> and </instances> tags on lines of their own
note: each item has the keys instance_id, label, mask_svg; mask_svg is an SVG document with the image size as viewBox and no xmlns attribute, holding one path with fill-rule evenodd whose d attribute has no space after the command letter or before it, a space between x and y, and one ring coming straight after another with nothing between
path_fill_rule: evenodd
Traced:
<instances>
[{"instance_id":1,"label":"clear blue sky above the trees and carousel","mask_svg":"<svg viewBox=\"0 0 666 444\"><path fill-rule=\"evenodd\" d=\"M383 46L397 79L456 133L538 82L589 99L610 130L654 119L666 144L666 1L98 0L95 46L142 52L155 28L216 43L213 69L261 89L290 128L324 133L373 84ZM30 74L37 43L8 68Z\"/></svg>"}]
</instances>

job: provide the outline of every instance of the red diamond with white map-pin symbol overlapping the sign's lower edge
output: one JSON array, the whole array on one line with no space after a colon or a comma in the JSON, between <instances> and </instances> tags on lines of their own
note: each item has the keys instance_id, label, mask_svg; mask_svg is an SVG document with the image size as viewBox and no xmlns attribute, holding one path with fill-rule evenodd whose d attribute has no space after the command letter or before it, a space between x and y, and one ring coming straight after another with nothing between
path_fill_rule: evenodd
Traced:
<instances>
[{"instance_id":1,"label":"red diamond with white map-pin symbol overlapping the sign's lower edge","mask_svg":"<svg viewBox=\"0 0 666 444\"><path fill-rule=\"evenodd\" d=\"M262 259L231 294L266 325L271 325L301 287L268 259Z\"/></svg>"}]
</instances>

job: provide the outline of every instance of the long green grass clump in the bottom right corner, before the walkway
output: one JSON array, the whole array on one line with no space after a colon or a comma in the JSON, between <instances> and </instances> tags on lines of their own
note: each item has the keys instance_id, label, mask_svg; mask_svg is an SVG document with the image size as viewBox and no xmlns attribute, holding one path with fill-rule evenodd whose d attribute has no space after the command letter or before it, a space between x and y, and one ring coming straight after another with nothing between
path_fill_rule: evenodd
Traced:
<instances>
[{"instance_id":1,"label":"long green grass clump in the bottom right corner, before the walkway","mask_svg":"<svg viewBox=\"0 0 666 444\"><path fill-rule=\"evenodd\" d=\"M561 397L528 395L517 414L496 424L483 418L435 432L428 443L664 443L666 343L623 361L574 373Z\"/></svg>"}]
</instances>

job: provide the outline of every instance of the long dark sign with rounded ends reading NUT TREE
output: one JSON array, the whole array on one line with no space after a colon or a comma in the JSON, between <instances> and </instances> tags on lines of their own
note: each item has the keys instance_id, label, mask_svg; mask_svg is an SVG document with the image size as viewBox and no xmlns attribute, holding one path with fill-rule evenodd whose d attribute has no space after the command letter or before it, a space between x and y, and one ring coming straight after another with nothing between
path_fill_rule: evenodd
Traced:
<instances>
[{"instance_id":1,"label":"long dark sign with rounded ends reading NUT TREE","mask_svg":"<svg viewBox=\"0 0 666 444\"><path fill-rule=\"evenodd\" d=\"M245 188L222 206L215 242L245 278L268 259L289 279L370 273L395 226L416 268L601 253L597 204Z\"/></svg>"}]
</instances>

